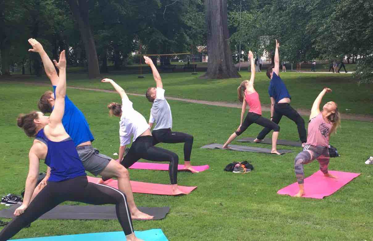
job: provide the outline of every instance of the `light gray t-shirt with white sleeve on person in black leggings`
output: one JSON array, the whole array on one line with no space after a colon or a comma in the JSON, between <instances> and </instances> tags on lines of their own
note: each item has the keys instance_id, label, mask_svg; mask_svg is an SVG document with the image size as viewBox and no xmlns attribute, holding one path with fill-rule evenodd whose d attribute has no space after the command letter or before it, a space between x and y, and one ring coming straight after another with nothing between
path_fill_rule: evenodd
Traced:
<instances>
[{"instance_id":1,"label":"light gray t-shirt with white sleeve on person in black leggings","mask_svg":"<svg viewBox=\"0 0 373 241\"><path fill-rule=\"evenodd\" d=\"M157 88L156 99L150 110L149 122L156 122L153 130L172 128L171 108L167 100L164 98L164 89Z\"/></svg>"}]
</instances>

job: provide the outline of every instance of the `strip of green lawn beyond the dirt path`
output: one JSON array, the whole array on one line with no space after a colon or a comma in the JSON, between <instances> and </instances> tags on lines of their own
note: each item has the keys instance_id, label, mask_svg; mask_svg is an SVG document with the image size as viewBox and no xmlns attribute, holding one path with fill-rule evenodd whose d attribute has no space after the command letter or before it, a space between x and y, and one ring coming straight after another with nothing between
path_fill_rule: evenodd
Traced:
<instances>
[{"instance_id":1,"label":"strip of green lawn beyond the dirt path","mask_svg":"<svg viewBox=\"0 0 373 241\"><path fill-rule=\"evenodd\" d=\"M166 96L200 99L207 101L236 102L237 87L244 79L250 78L250 73L240 72L239 79L200 79L197 75L186 73L162 73L162 81ZM127 92L145 94L150 86L155 86L152 74L144 74L144 79L138 79L138 74L107 74L102 77L114 79ZM290 95L292 106L310 109L314 99L325 87L333 90L325 96L324 101L335 101L341 113L373 115L373 84L357 85L351 74L311 74L311 73L280 73ZM50 83L46 77L13 76L13 80ZM68 85L86 88L112 89L109 84L101 83L101 78L87 79L86 74L68 74ZM255 88L260 101L270 104L268 96L269 79L264 72L257 73ZM346 110L348 109L348 110Z\"/></svg>"}]
</instances>

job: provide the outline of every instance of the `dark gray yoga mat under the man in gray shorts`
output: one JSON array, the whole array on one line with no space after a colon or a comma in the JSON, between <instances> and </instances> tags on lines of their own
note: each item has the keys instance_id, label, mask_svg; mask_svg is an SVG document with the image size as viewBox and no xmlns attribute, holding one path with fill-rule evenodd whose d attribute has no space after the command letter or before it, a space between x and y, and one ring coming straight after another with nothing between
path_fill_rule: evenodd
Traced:
<instances>
[{"instance_id":1,"label":"dark gray yoga mat under the man in gray shorts","mask_svg":"<svg viewBox=\"0 0 373 241\"><path fill-rule=\"evenodd\" d=\"M0 210L0 217L14 218L14 211L20 204L15 204L9 209ZM170 211L170 207L138 207L138 209L154 216L151 220L164 219ZM115 205L59 205L47 213L44 213L40 219L117 219Z\"/></svg>"}]
</instances>

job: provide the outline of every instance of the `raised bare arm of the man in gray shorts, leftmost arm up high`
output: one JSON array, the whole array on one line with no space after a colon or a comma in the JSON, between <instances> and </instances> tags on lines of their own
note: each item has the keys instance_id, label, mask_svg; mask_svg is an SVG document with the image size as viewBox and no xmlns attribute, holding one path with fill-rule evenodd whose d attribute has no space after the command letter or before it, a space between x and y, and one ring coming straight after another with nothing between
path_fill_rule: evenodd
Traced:
<instances>
[{"instance_id":1,"label":"raised bare arm of the man in gray shorts, leftmost arm up high","mask_svg":"<svg viewBox=\"0 0 373 241\"><path fill-rule=\"evenodd\" d=\"M29 52L39 53L41 57L41 61L43 61L44 70L50 79L50 82L52 85L57 85L58 83L58 75L56 72L56 69L54 68L54 65L50 58L48 57L46 51L44 51L43 46L41 46L40 42L38 42L36 39L30 38L28 39L28 42L31 44L32 48L29 49Z\"/></svg>"}]
</instances>

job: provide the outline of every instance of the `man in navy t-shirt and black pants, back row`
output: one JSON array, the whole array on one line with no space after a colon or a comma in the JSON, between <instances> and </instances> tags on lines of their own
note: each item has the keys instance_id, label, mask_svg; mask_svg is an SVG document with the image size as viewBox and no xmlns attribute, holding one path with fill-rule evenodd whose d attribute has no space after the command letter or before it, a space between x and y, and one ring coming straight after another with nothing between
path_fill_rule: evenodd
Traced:
<instances>
[{"instance_id":1,"label":"man in navy t-shirt and black pants, back row","mask_svg":"<svg viewBox=\"0 0 373 241\"><path fill-rule=\"evenodd\" d=\"M295 124L297 124L299 138L304 147L307 141L304 120L300 114L290 106L291 96L285 84L282 82L282 79L279 77L279 47L280 44L276 39L275 66L271 66L267 69L267 77L271 80L268 87L268 93L271 99L271 121L278 124L283 115L294 121ZM258 134L254 142L261 142L270 131L271 129L269 127L265 127Z\"/></svg>"}]
</instances>

